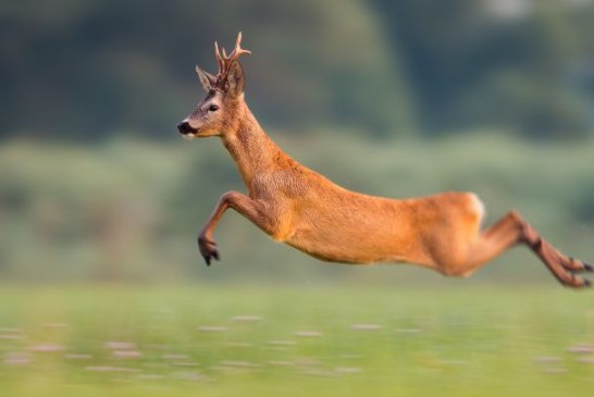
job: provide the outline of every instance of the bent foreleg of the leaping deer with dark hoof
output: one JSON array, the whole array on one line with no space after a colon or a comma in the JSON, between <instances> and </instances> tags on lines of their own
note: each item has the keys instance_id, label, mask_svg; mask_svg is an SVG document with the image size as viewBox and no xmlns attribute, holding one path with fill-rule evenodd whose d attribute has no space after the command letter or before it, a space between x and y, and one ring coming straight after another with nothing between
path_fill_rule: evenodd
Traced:
<instances>
[{"instance_id":1,"label":"bent foreleg of the leaping deer with dark hoof","mask_svg":"<svg viewBox=\"0 0 594 397\"><path fill-rule=\"evenodd\" d=\"M200 253L205 258L208 265L210 265L213 258L216 260L220 258L219 250L216 249L216 243L214 243L213 233L219 224L219 221L223 216L223 213L228 208L232 208L263 228L261 207L262 206L259 201L237 191L227 191L221 196L214 211L212 211L207 224L198 235L198 247L200 248Z\"/></svg>"}]
</instances>

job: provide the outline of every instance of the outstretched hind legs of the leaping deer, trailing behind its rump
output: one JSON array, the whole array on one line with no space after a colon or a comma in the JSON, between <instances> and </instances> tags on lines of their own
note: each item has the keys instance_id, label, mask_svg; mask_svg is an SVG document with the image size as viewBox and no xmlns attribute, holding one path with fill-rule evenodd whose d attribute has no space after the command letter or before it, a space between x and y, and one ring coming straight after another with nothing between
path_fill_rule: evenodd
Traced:
<instances>
[{"instance_id":1,"label":"outstretched hind legs of the leaping deer, trailing behind its rump","mask_svg":"<svg viewBox=\"0 0 594 397\"><path fill-rule=\"evenodd\" d=\"M468 275L499 256L508 248L524 244L548 268L550 273L565 286L581 288L590 286L590 281L573 273L593 269L587 263L566 257L525 222L518 212L511 211L493 226L480 234L471 246L467 263L461 274Z\"/></svg>"}]
</instances>

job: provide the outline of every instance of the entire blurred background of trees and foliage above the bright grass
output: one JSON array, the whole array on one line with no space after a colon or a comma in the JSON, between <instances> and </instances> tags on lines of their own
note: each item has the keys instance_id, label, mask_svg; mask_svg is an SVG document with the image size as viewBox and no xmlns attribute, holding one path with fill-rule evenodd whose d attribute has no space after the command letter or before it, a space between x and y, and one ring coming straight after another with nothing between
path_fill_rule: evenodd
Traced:
<instances>
[{"instance_id":1,"label":"entire blurred background of trees and foliage above the bright grass","mask_svg":"<svg viewBox=\"0 0 594 397\"><path fill-rule=\"evenodd\" d=\"M218 139L175 125L238 30L247 102L290 156L355 190L477 191L594 259L594 1L0 1L0 280L409 283L322 264L236 213ZM471 283L553 283L515 250ZM469 283L469 282L465 282Z\"/></svg>"}]
</instances>

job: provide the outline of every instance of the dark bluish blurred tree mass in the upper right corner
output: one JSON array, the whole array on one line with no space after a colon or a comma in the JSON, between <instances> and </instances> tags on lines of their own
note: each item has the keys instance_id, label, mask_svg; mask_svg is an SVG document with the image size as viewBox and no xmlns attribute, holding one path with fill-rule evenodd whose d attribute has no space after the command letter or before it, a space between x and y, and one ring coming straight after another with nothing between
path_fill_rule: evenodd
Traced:
<instances>
[{"instance_id":1,"label":"dark bluish blurred tree mass in the upper right corner","mask_svg":"<svg viewBox=\"0 0 594 397\"><path fill-rule=\"evenodd\" d=\"M565 139L592 129L592 1L375 3L428 131L490 125Z\"/></svg>"}]
</instances>

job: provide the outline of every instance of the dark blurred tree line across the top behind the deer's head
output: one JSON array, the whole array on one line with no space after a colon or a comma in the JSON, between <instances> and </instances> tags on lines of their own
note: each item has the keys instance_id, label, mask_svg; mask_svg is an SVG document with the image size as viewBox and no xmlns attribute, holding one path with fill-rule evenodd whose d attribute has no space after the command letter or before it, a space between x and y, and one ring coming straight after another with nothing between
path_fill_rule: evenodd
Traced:
<instances>
[{"instance_id":1,"label":"dark blurred tree line across the top behind the deer's head","mask_svg":"<svg viewBox=\"0 0 594 397\"><path fill-rule=\"evenodd\" d=\"M2 137L174 136L237 30L264 125L594 131L590 0L0 2Z\"/></svg>"}]
</instances>

